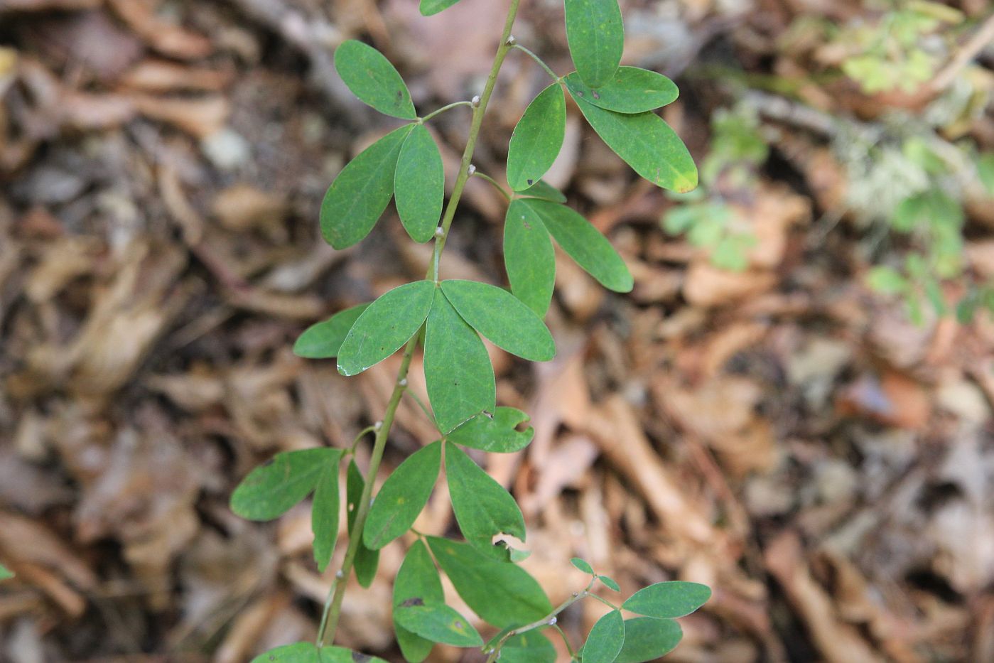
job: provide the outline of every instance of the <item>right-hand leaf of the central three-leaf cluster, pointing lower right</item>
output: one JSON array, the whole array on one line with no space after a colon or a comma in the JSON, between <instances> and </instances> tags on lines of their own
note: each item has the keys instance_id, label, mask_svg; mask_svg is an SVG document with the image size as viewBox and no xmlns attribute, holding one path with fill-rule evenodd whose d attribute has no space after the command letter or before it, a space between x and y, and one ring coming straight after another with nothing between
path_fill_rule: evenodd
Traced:
<instances>
[{"instance_id":1,"label":"right-hand leaf of the central three-leaf cluster, pointing lower right","mask_svg":"<svg viewBox=\"0 0 994 663\"><path fill-rule=\"evenodd\" d=\"M442 281L441 290L462 319L494 345L532 362L556 356L556 342L542 318L507 290L466 280Z\"/></svg>"}]
</instances>

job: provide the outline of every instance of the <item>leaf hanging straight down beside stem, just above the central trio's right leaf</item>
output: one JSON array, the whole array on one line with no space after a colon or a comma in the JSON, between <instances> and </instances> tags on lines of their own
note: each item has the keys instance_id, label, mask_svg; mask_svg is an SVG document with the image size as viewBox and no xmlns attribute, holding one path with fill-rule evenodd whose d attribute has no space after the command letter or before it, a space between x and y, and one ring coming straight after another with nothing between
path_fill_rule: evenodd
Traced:
<instances>
[{"instance_id":1,"label":"leaf hanging straight down beside stem, just above the central trio's right leaf","mask_svg":"<svg viewBox=\"0 0 994 663\"><path fill-rule=\"evenodd\" d=\"M542 219L522 200L512 201L504 218L504 266L514 296L545 317L556 287L556 249Z\"/></svg>"}]
</instances>

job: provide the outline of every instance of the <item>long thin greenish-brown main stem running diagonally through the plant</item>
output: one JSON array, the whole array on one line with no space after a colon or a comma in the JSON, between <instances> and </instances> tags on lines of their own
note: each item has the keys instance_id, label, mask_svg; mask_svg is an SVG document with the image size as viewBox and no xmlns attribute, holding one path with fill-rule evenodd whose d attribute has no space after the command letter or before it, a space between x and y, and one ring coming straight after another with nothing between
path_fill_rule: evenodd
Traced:
<instances>
[{"instance_id":1,"label":"long thin greenish-brown main stem running diagonally through the plant","mask_svg":"<svg viewBox=\"0 0 994 663\"><path fill-rule=\"evenodd\" d=\"M438 260L442 249L445 248L445 240L448 238L448 231L452 227L452 219L455 218L455 209L459 205L462 197L462 190L469 179L469 166L472 163L473 152L476 149L476 139L480 134L480 126L483 124L483 114L486 112L487 103L493 94L494 85L497 84L497 75L500 73L504 58L511 49L508 43L511 37L511 28L514 20L518 16L518 5L521 0L511 0L511 6L507 12L507 20L504 23L504 32L501 34L500 46L497 48L497 55L494 57L493 66L490 68L490 75L487 83L483 87L479 103L473 104L473 120L469 127L469 137L466 140L466 148L462 153L462 162L459 166L459 174L455 179L455 186L452 188L452 195L448 199L445 214L442 217L441 226L435 235L434 252L431 258L431 265L428 267L427 278L438 280ZM430 115L429 115L430 116ZM349 531L349 548L345 553L345 560L342 562L341 571L336 574L336 580L332 584L329 593L330 600L325 603L321 616L321 626L318 629L317 645L323 647L326 641L334 642L335 631L338 630L338 620L342 613L342 601L345 599L345 589L348 586L349 576L355 565L356 553L359 552L359 544L362 541L363 527L366 525L366 517L369 515L370 498L373 496L373 482L376 480L377 472L380 470L380 462L383 460L383 452L387 446L387 437L390 429L394 425L394 417L397 415L397 408L401 404L401 397L408 385L408 371L411 370L411 360L414 357L414 349L417 347L417 340L420 332L414 334L408 345L404 348L404 358L401 360L401 369L397 374L397 381L394 383L394 393L391 394L387 403L387 412L383 416L383 422L376 431L376 439L373 442L373 453L370 455L369 471L366 473L366 485L363 486L363 494L356 506L356 520Z\"/></svg>"}]
</instances>

